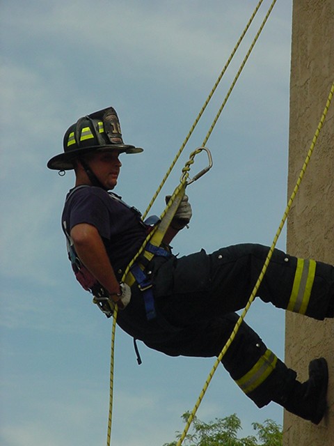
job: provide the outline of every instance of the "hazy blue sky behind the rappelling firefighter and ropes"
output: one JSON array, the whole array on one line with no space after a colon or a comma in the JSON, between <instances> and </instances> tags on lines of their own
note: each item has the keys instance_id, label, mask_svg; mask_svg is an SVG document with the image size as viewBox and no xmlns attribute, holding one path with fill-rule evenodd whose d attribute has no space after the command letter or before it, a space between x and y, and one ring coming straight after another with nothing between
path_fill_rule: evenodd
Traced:
<instances>
[{"instance_id":1,"label":"hazy blue sky behind the rappelling firefighter and ropes","mask_svg":"<svg viewBox=\"0 0 334 446\"><path fill-rule=\"evenodd\" d=\"M235 243L270 245L286 203L292 2L280 0L207 146L214 167L189 186L180 255ZM103 445L109 409L111 321L70 270L60 215L73 175L49 171L77 118L109 105L125 142L116 192L145 210L230 56L257 1L33 0L1 2L1 425L3 446ZM152 213L177 185L246 54L269 1L226 72ZM202 168L196 161L193 172ZM278 247L285 249L285 234ZM284 356L284 312L255 302L246 320ZM163 445L183 430L214 360L171 358L116 334L112 444ZM202 420L258 410L221 367Z\"/></svg>"}]
</instances>

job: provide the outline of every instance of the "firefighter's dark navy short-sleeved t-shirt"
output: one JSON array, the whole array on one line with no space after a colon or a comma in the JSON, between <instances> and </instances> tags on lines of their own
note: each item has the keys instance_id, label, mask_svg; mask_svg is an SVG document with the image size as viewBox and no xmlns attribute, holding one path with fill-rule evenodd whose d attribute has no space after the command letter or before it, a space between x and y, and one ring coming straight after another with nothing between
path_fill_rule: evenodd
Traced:
<instances>
[{"instance_id":1,"label":"firefighter's dark navy short-sleeved t-shirt","mask_svg":"<svg viewBox=\"0 0 334 446\"><path fill-rule=\"evenodd\" d=\"M79 186L67 194L63 227L70 233L72 227L80 223L91 224L99 231L118 277L122 276L147 235L138 210L101 187Z\"/></svg>"}]
</instances>

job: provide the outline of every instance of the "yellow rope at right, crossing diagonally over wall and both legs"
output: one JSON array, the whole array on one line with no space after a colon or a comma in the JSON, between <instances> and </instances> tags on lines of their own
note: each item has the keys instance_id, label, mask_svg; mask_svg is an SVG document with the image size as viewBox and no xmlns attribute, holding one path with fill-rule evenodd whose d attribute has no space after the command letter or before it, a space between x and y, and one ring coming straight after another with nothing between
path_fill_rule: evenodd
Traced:
<instances>
[{"instance_id":1,"label":"yellow rope at right, crossing diagonally over wall and both legs","mask_svg":"<svg viewBox=\"0 0 334 446\"><path fill-rule=\"evenodd\" d=\"M294 186L294 190L293 190L293 192L291 194L291 197L290 197L290 199L289 199L289 201L287 203L287 207L285 208L283 219L281 220L280 225L278 226L278 230L276 232L276 235L273 238L273 243L272 243L272 245L271 245L271 247L269 249L269 253L267 255L267 259L264 261L264 266L263 266L263 268L262 268L262 270L260 272L260 276L257 279L257 282L256 282L256 284L254 286L254 289L253 289L251 295L250 295L250 298L249 298L249 300L247 302L247 305L244 308L244 312L242 312L242 314L239 317L237 323L234 325L234 329L232 330L232 334L230 335L230 338L228 339L228 341L226 342L225 346L223 347L223 350L221 351L221 353L218 355L216 361L214 362L214 366L212 367L212 370L209 372L209 376L207 377L207 380L205 381L205 385L203 386L202 391L200 392L200 396L198 397L198 400L196 401L196 404L195 404L193 410L191 411L191 414L189 415L188 420L186 421L186 426L184 427L184 431L182 433L182 436L180 437L180 440L177 442L177 446L181 446L182 445L182 442L183 442L184 438L186 437L186 433L189 431L189 427L191 425L191 422L193 421L193 417L195 417L196 412L198 410L198 407L200 406L200 403L202 402L202 399L203 399L203 397L205 395L205 392L207 391L207 387L209 387L209 383L211 382L212 377L214 376L214 373L215 373L216 369L218 368L218 365L221 363L221 360L223 359L223 356L225 355L225 353L228 351L228 348L232 344L232 341L233 341L234 337L236 336L237 331L239 330L239 327L240 327L242 321L244 321L244 318L245 318L248 310L250 309L250 305L253 303L253 300L255 299L255 297L257 295L257 290L259 289L260 284L262 282L262 279L263 279L263 277L264 277L264 275L265 275L265 273L267 271L267 268L269 266L269 262L271 260L271 256L273 255L273 250L276 247L277 240L278 240L278 238L280 236L280 233L282 232L282 229L283 229L283 226L285 224L285 221L287 220L287 215L289 214L289 210L292 207L292 203L293 203L293 201L294 201L294 199L296 197L296 194L297 194L297 192L299 190L299 186L301 185L301 180L303 180L303 176L305 174L306 168L308 167L308 164L310 162L310 159L311 159L313 150L315 148L315 144L317 142L320 130L321 130L321 128L322 128L322 126L324 124L324 121L326 119L326 114L328 112L328 108L331 105L331 100L333 98L333 95L334 95L334 82L333 82L333 84L331 86L331 91L330 91L330 93L328 95L328 99L326 101L326 106L324 108L324 112L323 112L323 114L321 116L321 119L319 121L319 124L317 126L317 130L315 132L315 136L312 139L312 144L310 146L308 154L306 155L303 167L301 168L301 173L299 174L299 178L298 178L298 180L296 182L296 185Z\"/></svg>"}]
</instances>

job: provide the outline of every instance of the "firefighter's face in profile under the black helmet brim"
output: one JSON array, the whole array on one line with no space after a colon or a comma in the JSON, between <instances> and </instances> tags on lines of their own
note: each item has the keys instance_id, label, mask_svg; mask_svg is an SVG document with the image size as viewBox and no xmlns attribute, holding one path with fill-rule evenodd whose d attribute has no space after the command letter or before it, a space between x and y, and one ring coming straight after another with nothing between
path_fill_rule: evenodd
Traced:
<instances>
[{"instance_id":1,"label":"firefighter's face in profile under the black helmet brim","mask_svg":"<svg viewBox=\"0 0 334 446\"><path fill-rule=\"evenodd\" d=\"M120 174L122 163L117 150L101 152L89 157L89 167L107 190L113 189Z\"/></svg>"}]
</instances>

